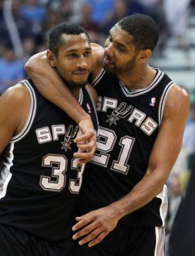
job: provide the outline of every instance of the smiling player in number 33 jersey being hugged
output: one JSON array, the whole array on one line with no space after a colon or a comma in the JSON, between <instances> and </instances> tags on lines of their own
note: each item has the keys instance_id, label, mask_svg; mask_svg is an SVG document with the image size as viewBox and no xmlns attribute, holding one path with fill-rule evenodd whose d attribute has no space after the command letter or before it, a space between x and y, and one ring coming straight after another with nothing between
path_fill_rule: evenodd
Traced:
<instances>
[{"instance_id":1,"label":"smiling player in number 33 jersey being hugged","mask_svg":"<svg viewBox=\"0 0 195 256\"><path fill-rule=\"evenodd\" d=\"M54 27L47 59L97 130L91 92L94 98L96 93L86 85L87 32L72 23ZM0 256L72 256L74 207L84 171L73 157L77 132L73 119L30 79L0 97Z\"/></svg>"}]
</instances>

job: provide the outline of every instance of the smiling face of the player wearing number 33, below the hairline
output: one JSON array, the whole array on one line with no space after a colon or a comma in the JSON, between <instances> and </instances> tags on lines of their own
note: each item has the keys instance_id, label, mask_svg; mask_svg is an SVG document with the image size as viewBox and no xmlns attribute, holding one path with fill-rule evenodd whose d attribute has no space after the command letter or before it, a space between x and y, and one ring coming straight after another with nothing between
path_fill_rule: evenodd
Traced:
<instances>
[{"instance_id":1,"label":"smiling face of the player wearing number 33, below the hairline","mask_svg":"<svg viewBox=\"0 0 195 256\"><path fill-rule=\"evenodd\" d=\"M58 51L56 68L67 85L80 87L86 85L91 64L91 47L86 34L62 35L64 44Z\"/></svg>"}]
</instances>

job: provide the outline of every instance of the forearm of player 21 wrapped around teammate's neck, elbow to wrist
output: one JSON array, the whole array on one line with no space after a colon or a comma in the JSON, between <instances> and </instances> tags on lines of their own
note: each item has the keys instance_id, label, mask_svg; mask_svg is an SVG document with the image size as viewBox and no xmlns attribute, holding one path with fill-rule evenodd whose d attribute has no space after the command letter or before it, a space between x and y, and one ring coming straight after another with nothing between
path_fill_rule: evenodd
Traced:
<instances>
[{"instance_id":1,"label":"forearm of player 21 wrapped around teammate's neck, elbow to wrist","mask_svg":"<svg viewBox=\"0 0 195 256\"><path fill-rule=\"evenodd\" d=\"M36 56L32 57L25 64L24 68L39 92L64 110L76 123L83 119L90 119L90 116L82 109L76 98L59 77L57 71L48 64L43 54L39 59Z\"/></svg>"}]
</instances>

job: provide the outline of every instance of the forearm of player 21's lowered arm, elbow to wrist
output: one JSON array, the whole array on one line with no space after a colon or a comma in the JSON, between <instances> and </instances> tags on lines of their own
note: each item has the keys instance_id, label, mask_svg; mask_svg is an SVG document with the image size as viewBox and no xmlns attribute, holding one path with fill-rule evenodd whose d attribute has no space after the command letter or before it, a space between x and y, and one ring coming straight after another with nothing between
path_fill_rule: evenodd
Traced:
<instances>
[{"instance_id":1,"label":"forearm of player 21's lowered arm, elbow to wrist","mask_svg":"<svg viewBox=\"0 0 195 256\"><path fill-rule=\"evenodd\" d=\"M123 216L148 204L162 191L164 183L164 177L161 178L159 173L152 172L144 176L129 194L109 205L109 207L112 207L116 215L121 219Z\"/></svg>"}]
</instances>

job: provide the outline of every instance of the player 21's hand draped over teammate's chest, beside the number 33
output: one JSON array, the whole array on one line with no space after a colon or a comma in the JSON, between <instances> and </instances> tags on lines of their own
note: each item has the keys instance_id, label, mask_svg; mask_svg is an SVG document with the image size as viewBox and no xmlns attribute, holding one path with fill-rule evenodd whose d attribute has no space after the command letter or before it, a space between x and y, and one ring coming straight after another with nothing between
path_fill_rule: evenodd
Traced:
<instances>
[{"instance_id":1,"label":"player 21's hand draped over teammate's chest, beside the number 33","mask_svg":"<svg viewBox=\"0 0 195 256\"><path fill-rule=\"evenodd\" d=\"M74 153L74 157L78 158L78 163L89 162L96 151L96 132L94 131L91 119L82 119L79 123L79 132L74 139L79 148Z\"/></svg>"}]
</instances>

